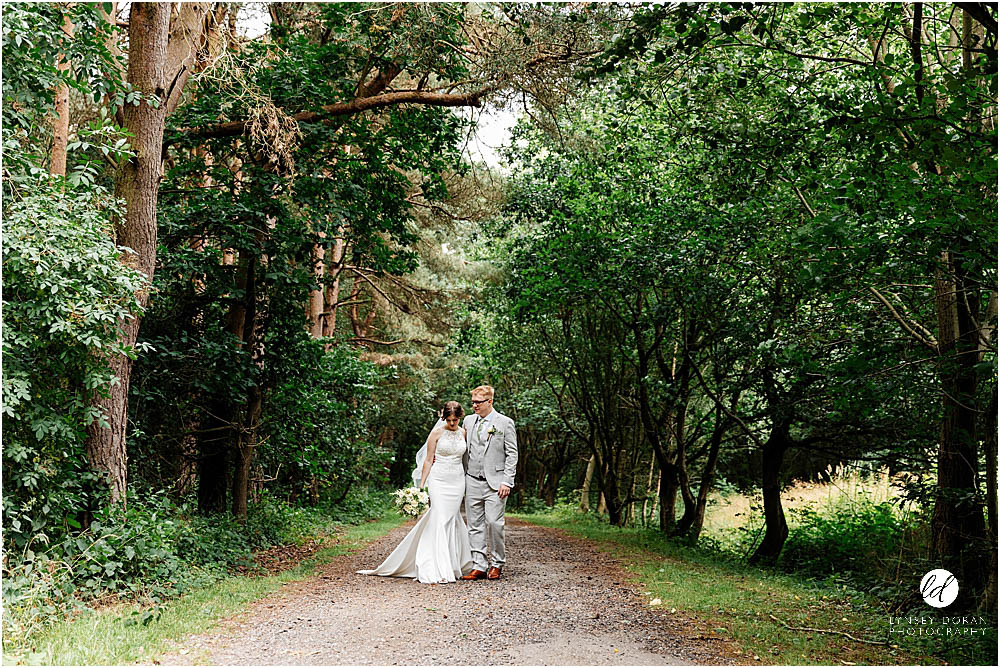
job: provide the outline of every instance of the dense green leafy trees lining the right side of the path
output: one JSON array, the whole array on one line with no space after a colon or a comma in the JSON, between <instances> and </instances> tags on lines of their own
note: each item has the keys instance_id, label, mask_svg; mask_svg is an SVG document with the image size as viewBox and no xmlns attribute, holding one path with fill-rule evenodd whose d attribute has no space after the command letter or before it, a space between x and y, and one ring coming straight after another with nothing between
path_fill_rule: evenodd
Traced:
<instances>
[{"instance_id":1,"label":"dense green leafy trees lining the right side of the path","mask_svg":"<svg viewBox=\"0 0 1000 668\"><path fill-rule=\"evenodd\" d=\"M683 435L698 396L760 457L759 561L787 535L790 452L926 465L917 444L936 413L934 552L986 583L991 16L978 5L642 10L593 69L614 101L588 100L518 152L511 215L524 231L508 235L506 298L562 322L553 336L575 352L566 324L599 318L592 334L614 364L633 361L634 388L613 394L655 454L661 509L681 492L685 517L666 510L664 530L698 514ZM721 368L719 353L732 355ZM552 357L571 377L572 353ZM599 403L577 401L588 417ZM699 438L715 449L717 437Z\"/></svg>"}]
</instances>

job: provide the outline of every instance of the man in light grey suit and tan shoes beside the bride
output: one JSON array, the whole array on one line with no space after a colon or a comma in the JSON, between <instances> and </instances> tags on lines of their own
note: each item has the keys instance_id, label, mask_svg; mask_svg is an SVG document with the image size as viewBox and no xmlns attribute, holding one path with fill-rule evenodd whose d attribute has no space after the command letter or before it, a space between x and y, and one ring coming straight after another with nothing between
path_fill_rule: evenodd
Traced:
<instances>
[{"instance_id":1,"label":"man in light grey suit and tan shoes beside the bride","mask_svg":"<svg viewBox=\"0 0 1000 668\"><path fill-rule=\"evenodd\" d=\"M503 544L504 508L517 470L514 421L493 410L493 388L472 391L474 415L465 427L465 518L469 522L472 571L463 580L499 580L507 554ZM490 553L487 560L486 543Z\"/></svg>"}]
</instances>

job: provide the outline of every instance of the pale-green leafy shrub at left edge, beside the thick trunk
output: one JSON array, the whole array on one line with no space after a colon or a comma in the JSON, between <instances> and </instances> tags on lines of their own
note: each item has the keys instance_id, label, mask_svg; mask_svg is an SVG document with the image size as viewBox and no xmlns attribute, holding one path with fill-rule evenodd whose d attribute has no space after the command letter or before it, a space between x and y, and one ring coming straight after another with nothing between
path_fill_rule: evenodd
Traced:
<instances>
[{"instance_id":1,"label":"pale-green leafy shrub at left edge, beside the thick trunk","mask_svg":"<svg viewBox=\"0 0 1000 668\"><path fill-rule=\"evenodd\" d=\"M4 209L4 545L58 539L79 527L96 482L83 450L103 420L90 396L112 382L106 355L139 310L139 272L126 267L110 219L116 203L46 179ZM36 548L37 549L37 548Z\"/></svg>"}]
</instances>

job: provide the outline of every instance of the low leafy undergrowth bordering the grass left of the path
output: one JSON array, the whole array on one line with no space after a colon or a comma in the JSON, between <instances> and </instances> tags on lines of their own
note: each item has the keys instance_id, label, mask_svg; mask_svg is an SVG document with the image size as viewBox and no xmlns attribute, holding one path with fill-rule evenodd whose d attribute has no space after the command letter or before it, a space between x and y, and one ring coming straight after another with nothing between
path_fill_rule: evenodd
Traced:
<instances>
[{"instance_id":1,"label":"low leafy undergrowth bordering the grass left of the path","mask_svg":"<svg viewBox=\"0 0 1000 668\"><path fill-rule=\"evenodd\" d=\"M57 540L43 534L3 558L4 649L23 646L48 625L111 603L144 604L132 620L148 624L162 604L253 563L275 545L333 535L338 527L383 516L388 495L350 495L334 507L298 508L263 497L245 523L231 515L202 516L165 493L130 498L85 530Z\"/></svg>"}]
</instances>

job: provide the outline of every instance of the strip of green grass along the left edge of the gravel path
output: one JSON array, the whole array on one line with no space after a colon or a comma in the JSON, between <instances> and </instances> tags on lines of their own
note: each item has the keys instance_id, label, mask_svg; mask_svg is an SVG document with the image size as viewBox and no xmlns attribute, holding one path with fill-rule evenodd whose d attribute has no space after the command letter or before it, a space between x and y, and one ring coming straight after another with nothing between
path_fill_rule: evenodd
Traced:
<instances>
[{"instance_id":1,"label":"strip of green grass along the left edge of the gravel path","mask_svg":"<svg viewBox=\"0 0 1000 668\"><path fill-rule=\"evenodd\" d=\"M153 658L176 648L176 641L202 633L216 622L244 610L251 602L281 587L305 579L333 558L355 552L405 521L387 515L374 522L348 526L333 545L322 548L299 566L278 575L248 578L233 576L190 592L160 608L158 619L147 625L132 623L146 611L138 605L88 610L53 624L31 640L31 646L11 654L4 663L29 665L87 665L151 663Z\"/></svg>"}]
</instances>

